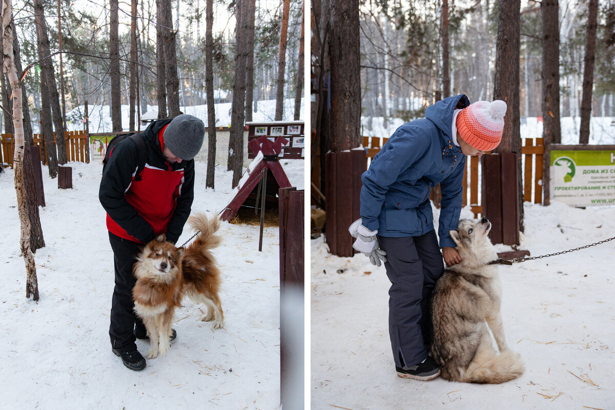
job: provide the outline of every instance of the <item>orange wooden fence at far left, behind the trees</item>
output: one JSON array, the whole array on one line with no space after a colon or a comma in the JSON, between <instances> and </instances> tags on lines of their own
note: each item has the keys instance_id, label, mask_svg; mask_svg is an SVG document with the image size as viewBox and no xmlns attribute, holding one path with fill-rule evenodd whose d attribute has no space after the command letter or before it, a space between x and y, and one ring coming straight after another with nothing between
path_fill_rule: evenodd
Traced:
<instances>
[{"instance_id":1,"label":"orange wooden fence at far left, behind the trees","mask_svg":"<svg viewBox=\"0 0 615 410\"><path fill-rule=\"evenodd\" d=\"M77 162L90 162L88 135L85 131L68 131L64 134L66 143L66 159ZM55 132L54 132L55 141ZM0 139L0 160L5 166L13 167L13 150L15 141L12 134L2 134ZM47 165L47 146L42 134L34 134L34 146L39 147L41 161Z\"/></svg>"}]
</instances>

